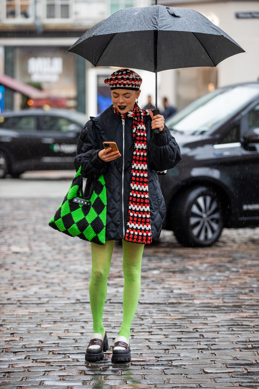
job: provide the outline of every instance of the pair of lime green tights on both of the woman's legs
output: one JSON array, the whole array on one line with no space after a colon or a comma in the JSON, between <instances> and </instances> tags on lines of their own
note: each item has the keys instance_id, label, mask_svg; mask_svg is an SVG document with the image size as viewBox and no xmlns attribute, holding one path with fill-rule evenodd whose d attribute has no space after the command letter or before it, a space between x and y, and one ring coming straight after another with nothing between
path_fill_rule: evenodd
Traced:
<instances>
[{"instance_id":1,"label":"pair of lime green tights on both of the woman's legs","mask_svg":"<svg viewBox=\"0 0 259 389\"><path fill-rule=\"evenodd\" d=\"M111 255L114 240L106 241L104 245L91 243L92 272L89 284L90 306L94 331L103 334L103 309L107 295L107 279L111 267ZM143 244L122 241L123 248L123 319L119 335L129 338L130 326L139 301L141 284L141 259Z\"/></svg>"}]
</instances>

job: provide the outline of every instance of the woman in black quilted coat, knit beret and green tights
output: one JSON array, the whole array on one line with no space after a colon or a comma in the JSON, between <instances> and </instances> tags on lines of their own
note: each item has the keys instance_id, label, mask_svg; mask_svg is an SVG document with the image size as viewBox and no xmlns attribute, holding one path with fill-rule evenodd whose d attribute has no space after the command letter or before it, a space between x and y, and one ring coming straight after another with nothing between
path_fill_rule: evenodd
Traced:
<instances>
[{"instance_id":1,"label":"woman in black quilted coat, knit beret and green tights","mask_svg":"<svg viewBox=\"0 0 259 389\"><path fill-rule=\"evenodd\" d=\"M93 334L85 353L87 361L103 359L108 339L103 327L107 279L115 240L123 248L123 320L113 347L112 362L130 361L130 326L140 293L141 259L145 244L158 238L165 217L165 202L156 171L172 168L181 159L175 139L164 126L162 115L137 105L141 77L120 69L104 81L110 85L113 105L91 117L83 128L75 159L87 177L85 196L104 174L107 190L106 242L91 243L92 272L89 284ZM159 134L152 134L158 128ZM103 149L116 142L119 151Z\"/></svg>"}]
</instances>

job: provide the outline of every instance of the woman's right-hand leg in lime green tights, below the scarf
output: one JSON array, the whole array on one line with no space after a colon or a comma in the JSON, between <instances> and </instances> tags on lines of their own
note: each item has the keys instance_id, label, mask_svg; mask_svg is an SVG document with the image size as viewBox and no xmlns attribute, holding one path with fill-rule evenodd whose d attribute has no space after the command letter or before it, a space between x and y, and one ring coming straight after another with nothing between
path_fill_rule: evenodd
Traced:
<instances>
[{"instance_id":1,"label":"woman's right-hand leg in lime green tights, below the scarf","mask_svg":"<svg viewBox=\"0 0 259 389\"><path fill-rule=\"evenodd\" d=\"M122 241L123 247L123 319L119 331L126 339L130 336L130 326L136 312L141 286L141 260L144 244Z\"/></svg>"}]
</instances>

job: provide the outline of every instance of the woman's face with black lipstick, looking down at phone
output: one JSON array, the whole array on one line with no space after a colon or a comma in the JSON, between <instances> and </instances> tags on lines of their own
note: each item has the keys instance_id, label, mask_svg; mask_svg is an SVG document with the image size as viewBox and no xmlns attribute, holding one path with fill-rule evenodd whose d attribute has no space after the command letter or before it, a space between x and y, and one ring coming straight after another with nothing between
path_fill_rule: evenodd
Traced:
<instances>
[{"instance_id":1,"label":"woman's face with black lipstick, looking down at phone","mask_svg":"<svg viewBox=\"0 0 259 389\"><path fill-rule=\"evenodd\" d=\"M140 95L139 91L132 91L130 89L113 89L111 91L111 100L113 105L121 114L132 111L136 98Z\"/></svg>"}]
</instances>

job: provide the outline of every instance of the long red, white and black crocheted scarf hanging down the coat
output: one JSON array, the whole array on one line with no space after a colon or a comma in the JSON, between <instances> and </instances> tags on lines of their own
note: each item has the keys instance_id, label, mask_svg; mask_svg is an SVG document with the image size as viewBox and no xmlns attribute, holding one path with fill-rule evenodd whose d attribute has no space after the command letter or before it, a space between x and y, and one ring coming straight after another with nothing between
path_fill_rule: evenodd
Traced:
<instances>
[{"instance_id":1,"label":"long red, white and black crocheted scarf hanging down the coat","mask_svg":"<svg viewBox=\"0 0 259 389\"><path fill-rule=\"evenodd\" d=\"M134 152L130 174L129 208L127 229L124 239L127 242L149 244L152 241L150 209L148 196L148 164L146 126L143 117L148 110L141 110L135 103L133 111L121 114L115 107L114 112L122 118L133 117L132 134Z\"/></svg>"}]
</instances>

